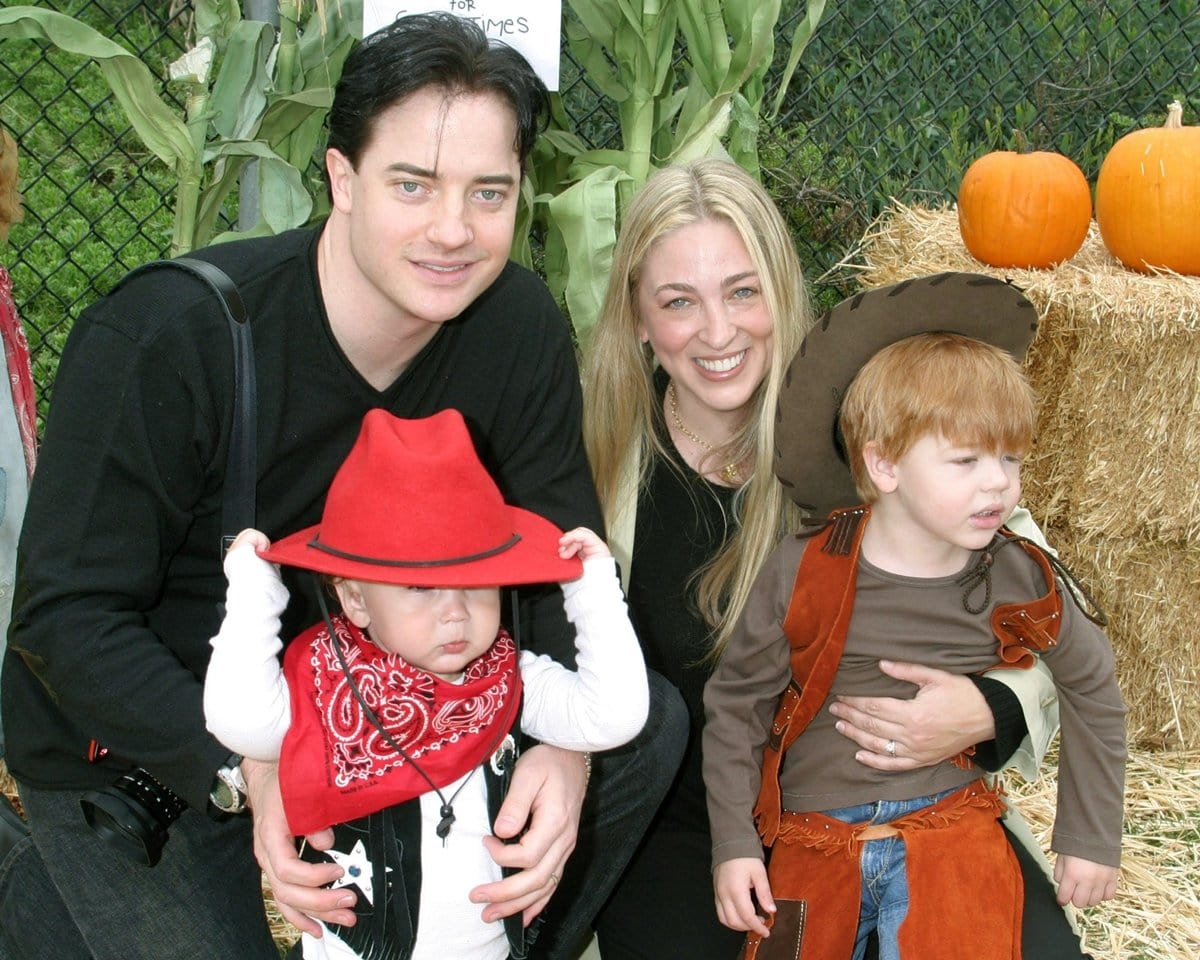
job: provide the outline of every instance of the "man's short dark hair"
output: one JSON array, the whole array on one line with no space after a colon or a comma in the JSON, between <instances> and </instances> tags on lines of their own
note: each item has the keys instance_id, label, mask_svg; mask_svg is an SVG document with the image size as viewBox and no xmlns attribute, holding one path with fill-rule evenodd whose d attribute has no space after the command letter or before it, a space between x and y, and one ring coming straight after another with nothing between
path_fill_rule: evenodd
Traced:
<instances>
[{"instance_id":1,"label":"man's short dark hair","mask_svg":"<svg viewBox=\"0 0 1200 960\"><path fill-rule=\"evenodd\" d=\"M512 107L524 169L548 115L546 85L520 53L452 13L401 17L350 53L329 112L329 146L358 166L379 114L430 86L493 94Z\"/></svg>"}]
</instances>

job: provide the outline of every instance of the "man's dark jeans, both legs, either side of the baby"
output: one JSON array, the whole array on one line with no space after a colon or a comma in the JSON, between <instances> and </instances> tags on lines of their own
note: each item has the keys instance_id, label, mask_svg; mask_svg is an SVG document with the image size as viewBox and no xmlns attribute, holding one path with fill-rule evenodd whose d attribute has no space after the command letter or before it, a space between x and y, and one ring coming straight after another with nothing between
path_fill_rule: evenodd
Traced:
<instances>
[{"instance_id":1,"label":"man's dark jeans, both legs, either side of the baby","mask_svg":"<svg viewBox=\"0 0 1200 960\"><path fill-rule=\"evenodd\" d=\"M587 935L670 786L686 736L682 697L652 673L646 728L595 757L578 847L534 946L538 960L564 960ZM217 822L186 810L151 868L88 827L78 791L22 785L20 796L34 836L0 864L2 960L278 960L248 817Z\"/></svg>"}]
</instances>

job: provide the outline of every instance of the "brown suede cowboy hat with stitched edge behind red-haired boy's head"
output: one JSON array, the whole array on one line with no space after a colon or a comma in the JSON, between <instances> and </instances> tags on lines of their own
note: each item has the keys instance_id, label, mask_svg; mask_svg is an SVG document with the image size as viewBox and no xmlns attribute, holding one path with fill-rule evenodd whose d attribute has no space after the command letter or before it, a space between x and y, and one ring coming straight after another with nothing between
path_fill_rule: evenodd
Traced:
<instances>
[{"instance_id":1,"label":"brown suede cowboy hat with stitched edge behind red-haired boy's head","mask_svg":"<svg viewBox=\"0 0 1200 960\"><path fill-rule=\"evenodd\" d=\"M844 300L804 337L787 368L775 418L775 475L802 510L826 516L859 502L838 433L841 398L863 365L917 334L974 337L1025 356L1038 314L1010 283L937 274Z\"/></svg>"}]
</instances>

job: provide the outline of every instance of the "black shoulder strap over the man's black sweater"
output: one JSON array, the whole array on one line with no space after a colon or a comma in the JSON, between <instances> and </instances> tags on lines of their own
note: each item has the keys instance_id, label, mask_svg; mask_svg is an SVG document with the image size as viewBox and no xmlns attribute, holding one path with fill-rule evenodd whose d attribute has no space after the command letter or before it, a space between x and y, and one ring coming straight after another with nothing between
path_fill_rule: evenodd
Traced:
<instances>
[{"instance_id":1,"label":"black shoulder strap over the man's black sweater","mask_svg":"<svg viewBox=\"0 0 1200 960\"><path fill-rule=\"evenodd\" d=\"M121 281L149 270L173 266L203 281L216 294L233 336L234 419L229 432L229 458L226 461L224 502L221 515L221 556L240 530L254 526L258 444L254 436L258 384L254 379L254 343L250 336L250 318L236 284L220 266L208 260L180 257L151 260L131 270Z\"/></svg>"}]
</instances>

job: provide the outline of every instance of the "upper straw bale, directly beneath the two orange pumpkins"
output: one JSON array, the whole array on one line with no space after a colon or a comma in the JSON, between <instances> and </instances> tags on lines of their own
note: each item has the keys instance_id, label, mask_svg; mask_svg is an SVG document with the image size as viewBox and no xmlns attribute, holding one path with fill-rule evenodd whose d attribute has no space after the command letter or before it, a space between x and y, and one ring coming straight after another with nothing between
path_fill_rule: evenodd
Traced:
<instances>
[{"instance_id":1,"label":"upper straw bale, directly beneath the two orange pumpkins","mask_svg":"<svg viewBox=\"0 0 1200 960\"><path fill-rule=\"evenodd\" d=\"M1052 270L972 257L953 209L894 204L851 262L865 287L944 270L1009 280L1037 307L1026 370L1039 397L1026 469L1037 514L1112 538L1200 542L1200 277L1127 270L1096 224Z\"/></svg>"}]
</instances>

